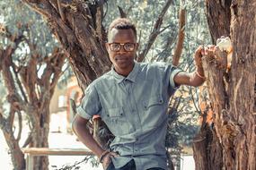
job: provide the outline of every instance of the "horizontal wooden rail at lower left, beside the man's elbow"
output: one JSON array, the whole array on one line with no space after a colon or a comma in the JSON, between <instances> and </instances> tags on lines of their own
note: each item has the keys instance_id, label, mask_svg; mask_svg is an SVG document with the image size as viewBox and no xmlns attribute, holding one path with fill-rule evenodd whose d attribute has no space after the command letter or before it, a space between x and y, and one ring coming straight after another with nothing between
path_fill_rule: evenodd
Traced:
<instances>
[{"instance_id":1,"label":"horizontal wooden rail at lower left, beside the man's elbow","mask_svg":"<svg viewBox=\"0 0 256 170\"><path fill-rule=\"evenodd\" d=\"M28 148L22 149L24 154L30 154L34 156L49 156L49 155L60 155L60 156L90 156L94 155L89 149L49 149L49 148Z\"/></svg>"}]
</instances>

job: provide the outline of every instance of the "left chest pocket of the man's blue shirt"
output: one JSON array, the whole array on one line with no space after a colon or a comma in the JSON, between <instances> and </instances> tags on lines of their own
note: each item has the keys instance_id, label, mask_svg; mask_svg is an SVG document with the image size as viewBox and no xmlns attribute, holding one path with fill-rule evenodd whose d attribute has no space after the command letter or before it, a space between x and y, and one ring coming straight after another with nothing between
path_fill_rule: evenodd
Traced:
<instances>
[{"instance_id":1,"label":"left chest pocket of the man's blue shirt","mask_svg":"<svg viewBox=\"0 0 256 170\"><path fill-rule=\"evenodd\" d=\"M123 107L107 108L103 121L115 136L125 135L131 131L131 124Z\"/></svg>"}]
</instances>

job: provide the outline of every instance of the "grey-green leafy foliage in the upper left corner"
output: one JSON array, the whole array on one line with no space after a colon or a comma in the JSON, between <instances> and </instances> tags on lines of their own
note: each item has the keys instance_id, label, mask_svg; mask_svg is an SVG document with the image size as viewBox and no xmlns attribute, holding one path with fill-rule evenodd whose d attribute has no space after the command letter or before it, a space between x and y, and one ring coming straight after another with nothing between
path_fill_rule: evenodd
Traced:
<instances>
[{"instance_id":1,"label":"grey-green leafy foliage in the upper left corner","mask_svg":"<svg viewBox=\"0 0 256 170\"><path fill-rule=\"evenodd\" d=\"M35 49L31 51L27 47L27 43L20 45L20 51L17 52L16 58L20 55L31 53L39 53L42 56L49 55L54 47L57 47L57 40L49 31L46 22L42 20L39 14L31 11L29 7L22 4L19 0L1 1L0 3L2 24L8 28L8 31L13 34L22 34L26 36L27 42L30 42ZM7 38L1 38L1 46L6 46L10 42Z\"/></svg>"}]
</instances>

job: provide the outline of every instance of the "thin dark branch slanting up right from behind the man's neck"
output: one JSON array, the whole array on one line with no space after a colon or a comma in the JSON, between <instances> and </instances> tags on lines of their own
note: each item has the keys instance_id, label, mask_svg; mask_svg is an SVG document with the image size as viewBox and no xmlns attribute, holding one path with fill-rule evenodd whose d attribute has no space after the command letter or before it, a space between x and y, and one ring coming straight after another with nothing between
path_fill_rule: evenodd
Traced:
<instances>
[{"instance_id":1,"label":"thin dark branch slanting up right from behind the man's neck","mask_svg":"<svg viewBox=\"0 0 256 170\"><path fill-rule=\"evenodd\" d=\"M142 50L142 52L138 55L137 57L137 62L142 62L147 55L149 49L152 47L154 44L155 38L159 35L160 33L160 28L163 23L163 16L167 12L168 8L172 4L172 0L168 0L166 4L163 6L162 12L159 14L158 19L154 23L154 29L152 33L149 36L149 39L147 41L146 47Z\"/></svg>"}]
</instances>

